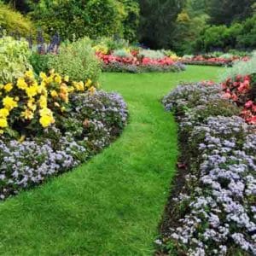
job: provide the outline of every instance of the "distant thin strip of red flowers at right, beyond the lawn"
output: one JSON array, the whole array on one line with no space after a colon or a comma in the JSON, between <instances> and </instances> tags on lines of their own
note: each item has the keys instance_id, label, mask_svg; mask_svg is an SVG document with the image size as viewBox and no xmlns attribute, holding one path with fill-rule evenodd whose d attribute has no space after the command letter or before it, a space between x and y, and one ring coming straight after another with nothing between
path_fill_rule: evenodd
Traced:
<instances>
[{"instance_id":1,"label":"distant thin strip of red flowers at right, beyond the lawn","mask_svg":"<svg viewBox=\"0 0 256 256\"><path fill-rule=\"evenodd\" d=\"M181 62L186 65L231 67L234 61L248 61L248 60L249 60L249 57L232 56L228 58L223 58L223 57L206 57L206 56L198 55L198 56L193 56L189 58L185 57Z\"/></svg>"}]
</instances>

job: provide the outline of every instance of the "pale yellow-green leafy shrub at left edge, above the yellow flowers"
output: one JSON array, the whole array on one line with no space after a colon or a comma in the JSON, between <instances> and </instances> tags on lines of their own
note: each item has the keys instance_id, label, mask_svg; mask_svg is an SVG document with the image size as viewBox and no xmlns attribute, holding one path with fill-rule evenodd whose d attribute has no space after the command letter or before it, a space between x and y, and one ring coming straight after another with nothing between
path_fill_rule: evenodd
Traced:
<instances>
[{"instance_id":1,"label":"pale yellow-green leafy shrub at left edge, above the yellow flowers","mask_svg":"<svg viewBox=\"0 0 256 256\"><path fill-rule=\"evenodd\" d=\"M26 40L11 37L0 38L0 83L12 82L20 77L29 64L30 50Z\"/></svg>"}]
</instances>

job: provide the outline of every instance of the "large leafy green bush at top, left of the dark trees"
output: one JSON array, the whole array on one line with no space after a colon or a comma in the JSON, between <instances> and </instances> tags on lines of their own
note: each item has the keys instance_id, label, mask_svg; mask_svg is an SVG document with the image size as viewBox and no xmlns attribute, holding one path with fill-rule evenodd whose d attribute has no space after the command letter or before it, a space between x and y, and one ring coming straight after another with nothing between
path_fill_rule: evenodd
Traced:
<instances>
[{"instance_id":1,"label":"large leafy green bush at top, left of the dark trees","mask_svg":"<svg viewBox=\"0 0 256 256\"><path fill-rule=\"evenodd\" d=\"M31 15L49 35L59 32L62 39L72 40L74 35L76 38L122 36L126 13L124 4L117 0L40 0L33 4ZM130 29L128 24L126 28Z\"/></svg>"}]
</instances>

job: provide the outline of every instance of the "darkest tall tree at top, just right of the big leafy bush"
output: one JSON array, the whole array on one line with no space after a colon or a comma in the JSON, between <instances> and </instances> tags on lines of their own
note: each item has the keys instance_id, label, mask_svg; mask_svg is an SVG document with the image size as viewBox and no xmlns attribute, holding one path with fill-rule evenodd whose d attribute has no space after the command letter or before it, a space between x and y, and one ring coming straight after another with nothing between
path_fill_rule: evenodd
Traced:
<instances>
[{"instance_id":1,"label":"darkest tall tree at top, just right of the big leafy bush","mask_svg":"<svg viewBox=\"0 0 256 256\"><path fill-rule=\"evenodd\" d=\"M152 49L169 47L177 15L185 0L140 0L140 41Z\"/></svg>"}]
</instances>

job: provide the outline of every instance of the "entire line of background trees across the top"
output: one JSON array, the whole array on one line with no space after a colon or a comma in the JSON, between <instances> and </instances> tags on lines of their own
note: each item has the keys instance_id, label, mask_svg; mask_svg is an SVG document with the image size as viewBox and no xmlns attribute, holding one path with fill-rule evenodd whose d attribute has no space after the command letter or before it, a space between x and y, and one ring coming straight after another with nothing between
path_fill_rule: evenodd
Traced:
<instances>
[{"instance_id":1,"label":"entire line of background trees across the top","mask_svg":"<svg viewBox=\"0 0 256 256\"><path fill-rule=\"evenodd\" d=\"M0 0L1 1L1 0ZM3 0L61 38L114 36L179 54L253 49L255 0ZM2 24L1 24L2 23ZM0 25L1 9L0 9Z\"/></svg>"}]
</instances>

